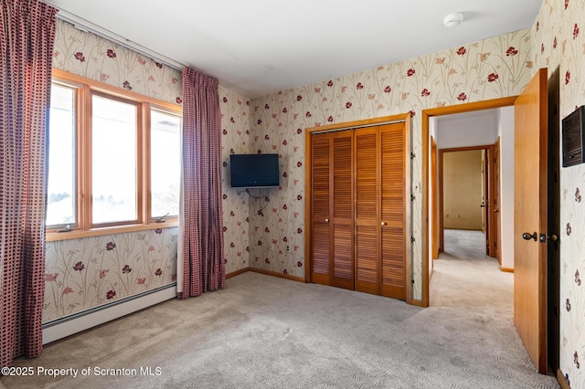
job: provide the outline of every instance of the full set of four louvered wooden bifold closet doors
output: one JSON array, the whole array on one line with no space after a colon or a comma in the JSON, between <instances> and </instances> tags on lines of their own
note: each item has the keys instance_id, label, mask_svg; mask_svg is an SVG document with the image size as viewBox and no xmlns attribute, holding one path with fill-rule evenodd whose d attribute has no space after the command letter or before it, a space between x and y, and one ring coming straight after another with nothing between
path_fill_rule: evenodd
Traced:
<instances>
[{"instance_id":1,"label":"full set of four louvered wooden bifold closet doors","mask_svg":"<svg viewBox=\"0 0 585 389\"><path fill-rule=\"evenodd\" d=\"M311 134L313 282L406 299L408 150L404 121Z\"/></svg>"}]
</instances>

